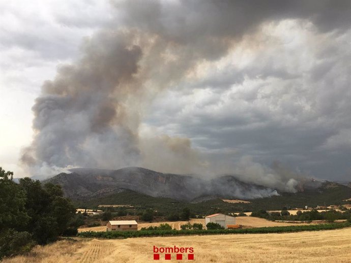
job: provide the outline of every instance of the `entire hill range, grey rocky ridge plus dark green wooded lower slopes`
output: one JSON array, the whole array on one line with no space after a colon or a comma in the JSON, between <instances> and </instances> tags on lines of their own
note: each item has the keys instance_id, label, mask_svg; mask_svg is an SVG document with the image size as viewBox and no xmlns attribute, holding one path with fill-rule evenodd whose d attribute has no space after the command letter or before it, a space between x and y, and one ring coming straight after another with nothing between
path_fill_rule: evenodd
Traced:
<instances>
[{"instance_id":1,"label":"entire hill range, grey rocky ridge plus dark green wooded lower slopes","mask_svg":"<svg viewBox=\"0 0 351 263\"><path fill-rule=\"evenodd\" d=\"M278 193L275 189L243 183L230 175L204 180L143 168L73 169L71 174L58 174L46 181L62 185L65 194L80 207L131 205L153 208L165 215L178 213L185 207L203 215L351 203L343 201L351 197L351 188L335 182L313 181L300 187L297 193ZM244 199L251 203L228 203L222 199Z\"/></svg>"}]
</instances>

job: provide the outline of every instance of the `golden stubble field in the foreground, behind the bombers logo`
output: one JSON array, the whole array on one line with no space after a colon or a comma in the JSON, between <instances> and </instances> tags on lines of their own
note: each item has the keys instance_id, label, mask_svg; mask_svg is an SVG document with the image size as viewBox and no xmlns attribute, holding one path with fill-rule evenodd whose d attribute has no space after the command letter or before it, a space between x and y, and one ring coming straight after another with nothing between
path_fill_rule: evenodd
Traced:
<instances>
[{"instance_id":1,"label":"golden stubble field in the foreground, behind the bombers logo","mask_svg":"<svg viewBox=\"0 0 351 263\"><path fill-rule=\"evenodd\" d=\"M193 247L194 260L153 260L153 246ZM246 234L123 240L63 240L37 246L4 263L351 262L351 228L286 234Z\"/></svg>"}]
</instances>

